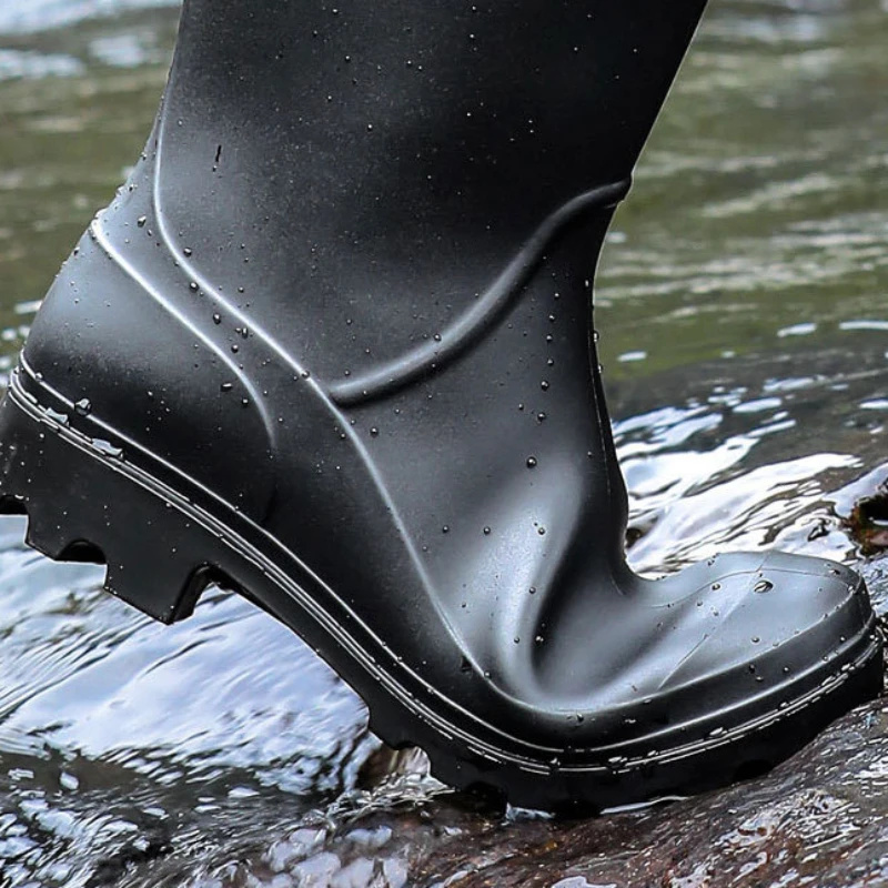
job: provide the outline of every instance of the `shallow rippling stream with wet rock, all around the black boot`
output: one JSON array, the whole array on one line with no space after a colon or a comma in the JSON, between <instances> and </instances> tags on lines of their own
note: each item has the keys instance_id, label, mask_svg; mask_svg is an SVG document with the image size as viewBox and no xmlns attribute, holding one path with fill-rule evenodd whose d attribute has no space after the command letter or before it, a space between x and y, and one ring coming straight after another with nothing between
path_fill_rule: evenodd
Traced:
<instances>
[{"instance_id":1,"label":"shallow rippling stream with wet rock, all around the black boot","mask_svg":"<svg viewBox=\"0 0 888 888\"><path fill-rule=\"evenodd\" d=\"M163 8L161 8L163 7ZM0 9L0 371L141 149L163 2ZM725 548L859 562L888 478L888 8L713 0L618 213L596 323L662 573ZM465 809L360 702L215 591L163 628L0 518L0 886L852 885L888 867L879 704L774 774L584 824ZM880 609L888 579L862 565ZM371 757L373 768L366 766ZM362 776L363 774L363 776Z\"/></svg>"}]
</instances>

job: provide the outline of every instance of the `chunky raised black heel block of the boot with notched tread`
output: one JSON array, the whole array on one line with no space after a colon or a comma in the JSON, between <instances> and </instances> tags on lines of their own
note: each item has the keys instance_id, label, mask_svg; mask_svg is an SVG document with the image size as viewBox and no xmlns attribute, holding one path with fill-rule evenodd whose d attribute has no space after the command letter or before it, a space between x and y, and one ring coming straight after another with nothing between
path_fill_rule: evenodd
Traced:
<instances>
[{"instance_id":1,"label":"chunky raised black heel block of the boot with notched tread","mask_svg":"<svg viewBox=\"0 0 888 888\"><path fill-rule=\"evenodd\" d=\"M210 582L194 555L204 528L119 451L14 391L0 403L0 514L27 515L26 542L54 561L105 564L105 589L163 623L191 614Z\"/></svg>"}]
</instances>

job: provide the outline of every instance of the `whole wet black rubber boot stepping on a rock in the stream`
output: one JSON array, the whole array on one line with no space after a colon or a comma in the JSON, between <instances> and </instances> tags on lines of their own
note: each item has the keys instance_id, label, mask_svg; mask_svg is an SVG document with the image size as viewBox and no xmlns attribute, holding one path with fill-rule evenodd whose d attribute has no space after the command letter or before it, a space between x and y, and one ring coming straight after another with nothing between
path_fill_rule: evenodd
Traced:
<instances>
[{"instance_id":1,"label":"whole wet black rubber boot stepping on a rock in the stream","mask_svg":"<svg viewBox=\"0 0 888 888\"><path fill-rule=\"evenodd\" d=\"M29 542L167 622L232 585L524 806L720 784L875 694L845 567L624 559L589 282L702 7L186 0L0 407Z\"/></svg>"}]
</instances>

